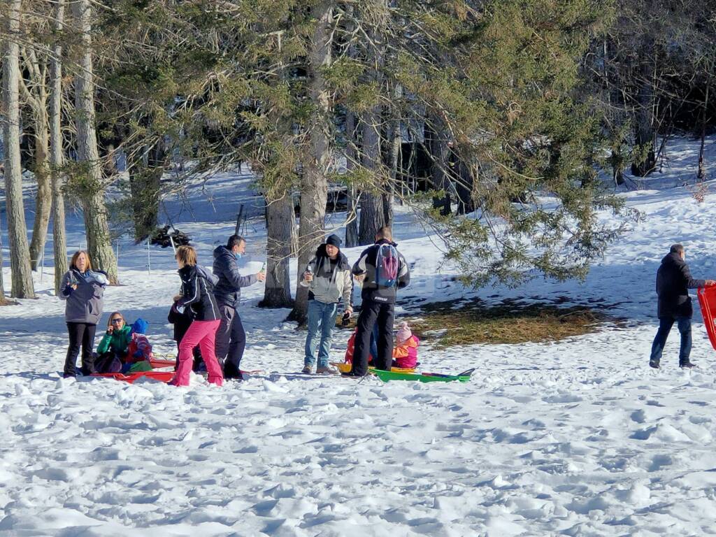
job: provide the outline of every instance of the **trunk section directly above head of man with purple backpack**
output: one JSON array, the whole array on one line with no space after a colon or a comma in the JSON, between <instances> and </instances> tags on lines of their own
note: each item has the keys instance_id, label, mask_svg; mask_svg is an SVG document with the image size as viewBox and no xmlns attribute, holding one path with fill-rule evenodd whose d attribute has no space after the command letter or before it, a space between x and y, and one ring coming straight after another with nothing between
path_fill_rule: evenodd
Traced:
<instances>
[{"instance_id":1,"label":"trunk section directly above head of man with purple backpack","mask_svg":"<svg viewBox=\"0 0 716 537\"><path fill-rule=\"evenodd\" d=\"M376 188L382 184L380 180L382 159L380 157L380 136L378 125L380 113L377 107L366 112L362 122L363 147L362 165L373 173ZM383 211L383 198L379 192L364 191L360 201L360 226L358 229L358 243L371 244L375 240L377 231L385 225Z\"/></svg>"}]
</instances>

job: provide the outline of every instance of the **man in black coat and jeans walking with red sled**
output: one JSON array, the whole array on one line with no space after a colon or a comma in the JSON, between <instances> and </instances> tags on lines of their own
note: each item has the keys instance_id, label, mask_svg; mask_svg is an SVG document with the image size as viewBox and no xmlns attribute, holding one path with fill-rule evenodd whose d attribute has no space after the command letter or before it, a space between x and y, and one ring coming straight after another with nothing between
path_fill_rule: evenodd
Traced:
<instances>
[{"instance_id":1,"label":"man in black coat and jeans walking with red sled","mask_svg":"<svg viewBox=\"0 0 716 537\"><path fill-rule=\"evenodd\" d=\"M686 264L686 253L681 244L673 244L667 256L662 259L662 265L657 271L657 295L659 305L659 332L654 337L652 355L649 365L659 367L662 359L664 344L667 342L674 321L681 333L681 350L679 352L679 367L694 367L689 360L691 354L691 317L694 309L688 289L709 287L716 285L713 280L695 280Z\"/></svg>"}]
</instances>

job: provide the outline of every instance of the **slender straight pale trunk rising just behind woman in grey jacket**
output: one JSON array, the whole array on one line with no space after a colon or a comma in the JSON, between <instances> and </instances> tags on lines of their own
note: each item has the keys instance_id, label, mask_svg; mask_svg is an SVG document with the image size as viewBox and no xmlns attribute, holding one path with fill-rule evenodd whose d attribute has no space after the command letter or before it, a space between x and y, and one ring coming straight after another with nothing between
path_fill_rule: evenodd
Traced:
<instances>
[{"instance_id":1,"label":"slender straight pale trunk rising just behind woman in grey jacket","mask_svg":"<svg viewBox=\"0 0 716 537\"><path fill-rule=\"evenodd\" d=\"M56 0L54 29L62 33L64 24L64 0ZM54 250L54 292L59 294L59 284L67 272L67 241L64 231L64 197L62 195L62 44L59 37L54 43L50 58L50 174L52 175L52 248Z\"/></svg>"}]
</instances>

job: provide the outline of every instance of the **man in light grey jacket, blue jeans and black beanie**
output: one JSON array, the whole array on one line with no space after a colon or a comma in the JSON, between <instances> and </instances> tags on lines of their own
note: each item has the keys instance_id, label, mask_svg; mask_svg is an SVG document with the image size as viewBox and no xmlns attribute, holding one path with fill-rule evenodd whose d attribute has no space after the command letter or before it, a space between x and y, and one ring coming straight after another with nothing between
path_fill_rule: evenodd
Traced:
<instances>
[{"instance_id":1,"label":"man in light grey jacket, blue jeans and black beanie","mask_svg":"<svg viewBox=\"0 0 716 537\"><path fill-rule=\"evenodd\" d=\"M339 236L329 236L326 243L316 250L316 256L306 266L304 279L301 280L302 286L309 287L309 333L306 336L304 373L310 373L316 363L319 333L316 373L337 373L329 367L328 359L339 301L343 300L344 315L353 313L351 266L340 246Z\"/></svg>"}]
</instances>

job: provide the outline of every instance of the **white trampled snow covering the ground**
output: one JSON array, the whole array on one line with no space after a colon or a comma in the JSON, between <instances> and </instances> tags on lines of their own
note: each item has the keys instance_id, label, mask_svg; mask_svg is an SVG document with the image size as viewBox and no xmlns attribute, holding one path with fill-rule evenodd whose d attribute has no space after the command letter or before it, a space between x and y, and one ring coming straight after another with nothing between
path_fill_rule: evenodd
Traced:
<instances>
[{"instance_id":1,"label":"white trampled snow covering the ground","mask_svg":"<svg viewBox=\"0 0 716 537\"><path fill-rule=\"evenodd\" d=\"M716 365L698 313L692 359L700 368L678 369L675 332L663 368L647 367L654 273L669 244L684 243L696 277L716 277L716 197L698 204L688 185L696 150L675 143L670 168L621 194L643 218L584 284L537 280L475 294L601 301L627 325L559 343L420 350L426 370L476 367L467 384L282 377L276 372L300 369L305 333L283 322L285 310L256 307L258 285L244 293L242 365L263 372L248 382L217 389L193 377L182 390L61 379L64 304L45 269L37 300L0 308L0 534L716 533ZM190 190L190 205L168 200L165 211L211 266L238 203L251 199L246 175L221 175ZM256 271L261 218L246 231L246 268ZM79 216L69 232L77 248ZM404 307L473 295L449 269L437 270L430 238L409 213L399 213L395 235L414 263ZM142 316L155 351L173 352L166 314L179 280L170 251L150 253L151 273L146 246L120 244L122 286L107 289L103 321L114 309ZM4 276L9 286L7 266ZM348 335L336 334L335 357Z\"/></svg>"}]
</instances>

